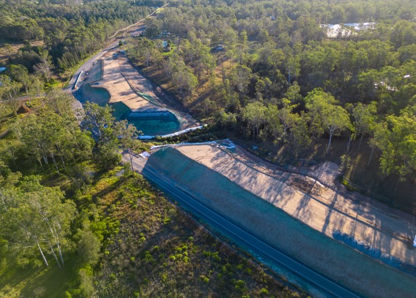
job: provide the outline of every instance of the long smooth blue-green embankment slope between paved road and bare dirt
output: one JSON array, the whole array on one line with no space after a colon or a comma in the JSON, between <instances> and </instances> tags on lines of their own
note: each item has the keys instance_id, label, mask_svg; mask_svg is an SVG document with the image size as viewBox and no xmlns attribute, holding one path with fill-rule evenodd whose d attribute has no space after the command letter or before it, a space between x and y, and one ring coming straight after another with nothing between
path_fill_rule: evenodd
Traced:
<instances>
[{"instance_id":1,"label":"long smooth blue-green embankment slope between paved road and bare dirt","mask_svg":"<svg viewBox=\"0 0 416 298\"><path fill-rule=\"evenodd\" d=\"M178 150L162 148L146 166L268 243L367 297L414 297L415 278L311 229Z\"/></svg>"}]
</instances>

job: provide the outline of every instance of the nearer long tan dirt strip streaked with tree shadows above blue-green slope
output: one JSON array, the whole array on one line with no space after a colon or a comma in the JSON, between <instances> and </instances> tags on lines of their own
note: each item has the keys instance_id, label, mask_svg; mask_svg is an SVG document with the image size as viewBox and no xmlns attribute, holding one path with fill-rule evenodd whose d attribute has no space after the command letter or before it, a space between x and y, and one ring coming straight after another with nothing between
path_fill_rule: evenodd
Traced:
<instances>
[{"instance_id":1,"label":"nearer long tan dirt strip streaked with tree shadows above blue-green slope","mask_svg":"<svg viewBox=\"0 0 416 298\"><path fill-rule=\"evenodd\" d=\"M270 168L249 159L238 146L232 151L213 145L177 150L329 237L342 231L416 265L416 249L409 245L416 233L415 218L406 213L379 210L311 177Z\"/></svg>"}]
</instances>

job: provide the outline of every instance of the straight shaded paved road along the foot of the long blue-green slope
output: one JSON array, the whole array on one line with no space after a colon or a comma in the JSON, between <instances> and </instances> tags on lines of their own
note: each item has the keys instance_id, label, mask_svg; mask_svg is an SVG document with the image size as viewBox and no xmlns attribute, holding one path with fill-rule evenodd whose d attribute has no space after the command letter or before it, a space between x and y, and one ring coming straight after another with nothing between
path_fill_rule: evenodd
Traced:
<instances>
[{"instance_id":1,"label":"straight shaded paved road along the foot of the long blue-green slope","mask_svg":"<svg viewBox=\"0 0 416 298\"><path fill-rule=\"evenodd\" d=\"M166 182L155 172L155 170L150 168L150 166L146 165L141 174L156 184L159 189L168 195L171 195L171 197L174 198L177 202L185 205L185 207L189 209L193 214L207 222L212 227L223 231L223 234L229 236L229 238L236 239L239 242L244 243L246 247L251 249L252 252L258 254L259 256L268 258L270 261L281 265L282 267L295 273L298 277L311 283L313 286L324 290L324 292L327 292L333 297L360 297L344 286L341 286L335 281L327 279L319 272L316 272L306 265L303 265L299 261L296 261L291 256L284 254L284 252L279 251L279 249L268 245L268 243L260 240L257 238L257 236L254 236L250 232L245 231L234 222L231 222L224 216L216 213L216 211L209 209L209 207L198 202L198 200L189 193L186 193L182 189L179 189L177 186L173 186Z\"/></svg>"}]
</instances>

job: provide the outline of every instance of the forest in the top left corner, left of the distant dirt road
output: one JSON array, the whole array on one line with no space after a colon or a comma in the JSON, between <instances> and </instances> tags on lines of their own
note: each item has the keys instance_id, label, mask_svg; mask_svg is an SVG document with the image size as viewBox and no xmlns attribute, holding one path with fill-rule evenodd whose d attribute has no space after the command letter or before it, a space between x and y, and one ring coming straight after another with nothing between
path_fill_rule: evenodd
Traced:
<instances>
[{"instance_id":1,"label":"forest in the top left corner, left of the distant dirt road","mask_svg":"<svg viewBox=\"0 0 416 298\"><path fill-rule=\"evenodd\" d=\"M19 96L43 94L101 49L116 30L164 1L0 1L0 98L16 113ZM3 70L3 67L6 69Z\"/></svg>"}]
</instances>

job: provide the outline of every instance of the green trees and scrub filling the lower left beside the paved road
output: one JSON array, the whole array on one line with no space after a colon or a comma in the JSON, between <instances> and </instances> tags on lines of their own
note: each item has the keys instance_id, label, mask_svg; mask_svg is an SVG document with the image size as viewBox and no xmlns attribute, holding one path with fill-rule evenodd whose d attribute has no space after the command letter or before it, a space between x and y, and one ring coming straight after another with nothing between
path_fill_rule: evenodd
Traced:
<instances>
[{"instance_id":1,"label":"green trees and scrub filling the lower left beside the paved road","mask_svg":"<svg viewBox=\"0 0 416 298\"><path fill-rule=\"evenodd\" d=\"M0 297L305 296L119 166L149 144L110 107L32 100L0 139Z\"/></svg>"}]
</instances>

